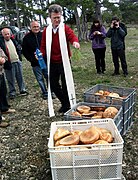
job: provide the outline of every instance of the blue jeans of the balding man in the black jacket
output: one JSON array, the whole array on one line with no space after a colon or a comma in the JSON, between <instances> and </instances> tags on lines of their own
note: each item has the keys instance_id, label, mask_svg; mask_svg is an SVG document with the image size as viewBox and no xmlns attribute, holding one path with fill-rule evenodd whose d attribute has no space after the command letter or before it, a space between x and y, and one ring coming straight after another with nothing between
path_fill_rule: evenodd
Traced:
<instances>
[{"instance_id":1,"label":"blue jeans of the balding man in the black jacket","mask_svg":"<svg viewBox=\"0 0 138 180\"><path fill-rule=\"evenodd\" d=\"M35 67L32 67L32 70L41 88L42 94L47 95L47 88L46 88L45 80L44 80L46 79L46 82L48 80L47 69L42 70L39 66L35 66Z\"/></svg>"}]
</instances>

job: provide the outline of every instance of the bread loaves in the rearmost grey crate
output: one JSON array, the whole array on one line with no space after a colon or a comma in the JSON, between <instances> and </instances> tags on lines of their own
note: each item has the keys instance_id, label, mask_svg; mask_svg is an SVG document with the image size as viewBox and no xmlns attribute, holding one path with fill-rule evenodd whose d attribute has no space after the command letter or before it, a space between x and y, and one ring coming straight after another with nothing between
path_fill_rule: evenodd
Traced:
<instances>
[{"instance_id":1,"label":"bread loaves in the rearmost grey crate","mask_svg":"<svg viewBox=\"0 0 138 180\"><path fill-rule=\"evenodd\" d=\"M120 99L123 99L125 97L121 97L118 93L115 93L115 92L109 92L109 91L104 91L104 90L99 90L95 93L95 95L99 95L99 96L109 96L109 97L112 97L112 98L120 98Z\"/></svg>"}]
</instances>

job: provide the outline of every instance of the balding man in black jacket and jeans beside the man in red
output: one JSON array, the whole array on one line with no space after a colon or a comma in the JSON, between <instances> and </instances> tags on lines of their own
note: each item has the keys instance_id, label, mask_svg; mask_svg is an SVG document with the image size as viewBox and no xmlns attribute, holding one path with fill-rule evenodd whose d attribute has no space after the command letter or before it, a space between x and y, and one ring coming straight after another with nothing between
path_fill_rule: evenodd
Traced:
<instances>
[{"instance_id":1,"label":"balding man in black jacket and jeans beside the man in red","mask_svg":"<svg viewBox=\"0 0 138 180\"><path fill-rule=\"evenodd\" d=\"M47 81L47 69L41 69L36 59L36 49L40 49L42 32L40 32L40 26L37 21L30 23L31 31L23 38L22 52L25 58L31 63L33 73L41 88L43 99L47 99L48 93L45 85L44 78Z\"/></svg>"}]
</instances>

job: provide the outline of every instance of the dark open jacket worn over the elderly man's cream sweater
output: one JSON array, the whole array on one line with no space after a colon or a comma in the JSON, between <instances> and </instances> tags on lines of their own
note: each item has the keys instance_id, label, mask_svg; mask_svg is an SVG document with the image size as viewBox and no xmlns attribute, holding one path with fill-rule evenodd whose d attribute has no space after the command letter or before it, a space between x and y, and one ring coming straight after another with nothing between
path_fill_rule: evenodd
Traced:
<instances>
[{"instance_id":1,"label":"dark open jacket worn over the elderly man's cream sweater","mask_svg":"<svg viewBox=\"0 0 138 180\"><path fill-rule=\"evenodd\" d=\"M22 61L22 55L21 55L21 47L20 47L20 45L18 44L18 42L17 42L15 39L11 38L11 40L12 40L12 42L13 42L15 48L16 48L17 54L18 54L18 56L19 56L19 60ZM6 44L5 44L5 41L4 41L4 37L3 37L3 36L0 37L0 47L1 47L1 49L3 49L5 55L6 55L7 57L9 57L8 52L6 51Z\"/></svg>"}]
</instances>

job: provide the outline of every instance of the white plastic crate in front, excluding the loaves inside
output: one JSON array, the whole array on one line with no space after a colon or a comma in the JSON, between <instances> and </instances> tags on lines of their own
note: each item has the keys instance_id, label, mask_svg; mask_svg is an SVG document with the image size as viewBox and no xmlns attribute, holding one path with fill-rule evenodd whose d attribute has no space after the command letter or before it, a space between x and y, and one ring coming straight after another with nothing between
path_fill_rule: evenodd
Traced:
<instances>
[{"instance_id":1,"label":"white plastic crate in front, excluding the loaves inside","mask_svg":"<svg viewBox=\"0 0 138 180\"><path fill-rule=\"evenodd\" d=\"M53 135L58 128L85 130L93 125L110 130L114 142L109 145L54 146ZM53 180L121 180L123 139L112 119L53 122L48 150Z\"/></svg>"}]
</instances>

